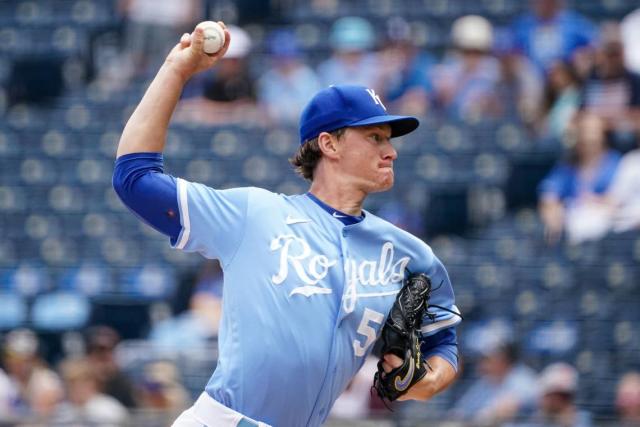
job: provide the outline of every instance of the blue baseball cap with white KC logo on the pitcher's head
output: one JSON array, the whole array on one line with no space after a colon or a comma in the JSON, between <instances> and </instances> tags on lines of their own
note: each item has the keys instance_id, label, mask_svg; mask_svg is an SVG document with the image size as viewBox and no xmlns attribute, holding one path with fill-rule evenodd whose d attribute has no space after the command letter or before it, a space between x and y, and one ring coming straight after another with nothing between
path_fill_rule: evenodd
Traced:
<instances>
[{"instance_id":1,"label":"blue baseball cap with white KC logo on the pitcher's head","mask_svg":"<svg viewBox=\"0 0 640 427\"><path fill-rule=\"evenodd\" d=\"M393 116L373 89L364 86L335 85L318 92L300 116L300 144L316 138L321 132L344 127L387 123L391 137L414 131L420 122L415 117Z\"/></svg>"}]
</instances>

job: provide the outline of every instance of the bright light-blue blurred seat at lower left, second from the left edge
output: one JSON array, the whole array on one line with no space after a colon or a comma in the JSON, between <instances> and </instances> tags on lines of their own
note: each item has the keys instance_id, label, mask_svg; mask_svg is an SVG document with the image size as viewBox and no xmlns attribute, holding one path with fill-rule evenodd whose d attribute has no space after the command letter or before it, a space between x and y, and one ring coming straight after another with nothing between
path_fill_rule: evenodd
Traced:
<instances>
[{"instance_id":1,"label":"bright light-blue blurred seat at lower left, second from the left edge","mask_svg":"<svg viewBox=\"0 0 640 427\"><path fill-rule=\"evenodd\" d=\"M31 320L42 331L79 330L88 323L90 315L91 305L85 296L56 291L36 297Z\"/></svg>"}]
</instances>

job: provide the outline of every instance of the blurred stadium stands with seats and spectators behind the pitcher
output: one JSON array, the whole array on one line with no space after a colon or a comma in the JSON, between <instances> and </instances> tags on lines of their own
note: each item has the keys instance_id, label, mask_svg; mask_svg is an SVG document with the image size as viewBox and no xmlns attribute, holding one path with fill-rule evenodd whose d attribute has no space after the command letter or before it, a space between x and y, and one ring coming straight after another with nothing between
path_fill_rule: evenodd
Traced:
<instances>
[{"instance_id":1,"label":"blurred stadium stands with seats and spectators behind the pitcher","mask_svg":"<svg viewBox=\"0 0 640 427\"><path fill-rule=\"evenodd\" d=\"M219 265L111 187L206 19L233 43L184 90L173 175L304 192L287 158L331 83L421 118L366 207L448 268L459 379L390 412L370 360L328 425L640 425L638 0L0 0L0 425L170 425L213 371Z\"/></svg>"}]
</instances>

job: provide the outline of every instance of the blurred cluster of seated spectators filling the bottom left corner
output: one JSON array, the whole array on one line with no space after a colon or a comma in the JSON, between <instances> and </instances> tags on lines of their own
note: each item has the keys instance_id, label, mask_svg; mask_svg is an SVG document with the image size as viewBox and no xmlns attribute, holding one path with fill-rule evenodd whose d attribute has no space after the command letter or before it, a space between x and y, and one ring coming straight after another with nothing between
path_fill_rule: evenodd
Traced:
<instances>
[{"instance_id":1,"label":"blurred cluster of seated spectators filling the bottom left corner","mask_svg":"<svg viewBox=\"0 0 640 427\"><path fill-rule=\"evenodd\" d=\"M94 326L82 351L48 363L33 331L9 332L2 343L0 425L158 425L139 416L134 422L130 412L160 413L162 423L190 405L172 362L149 363L134 378L116 360L119 341L112 328Z\"/></svg>"}]
</instances>

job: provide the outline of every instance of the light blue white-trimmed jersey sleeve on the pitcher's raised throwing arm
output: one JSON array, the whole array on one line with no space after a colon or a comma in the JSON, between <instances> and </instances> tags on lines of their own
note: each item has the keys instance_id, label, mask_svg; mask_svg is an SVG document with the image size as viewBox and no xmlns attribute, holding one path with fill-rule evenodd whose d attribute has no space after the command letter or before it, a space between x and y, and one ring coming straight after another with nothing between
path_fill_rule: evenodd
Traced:
<instances>
[{"instance_id":1,"label":"light blue white-trimmed jersey sleeve on the pitcher's raised throwing arm","mask_svg":"<svg viewBox=\"0 0 640 427\"><path fill-rule=\"evenodd\" d=\"M173 247L228 265L244 237L250 188L215 190L177 179L182 230Z\"/></svg>"}]
</instances>

